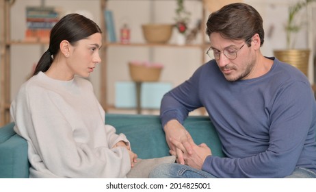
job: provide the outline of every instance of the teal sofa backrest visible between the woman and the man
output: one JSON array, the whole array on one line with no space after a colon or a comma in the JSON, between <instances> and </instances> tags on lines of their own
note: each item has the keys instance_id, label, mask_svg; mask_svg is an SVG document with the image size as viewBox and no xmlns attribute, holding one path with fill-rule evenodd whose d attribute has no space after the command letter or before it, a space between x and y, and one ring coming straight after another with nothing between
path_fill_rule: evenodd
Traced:
<instances>
[{"instance_id":1,"label":"teal sofa backrest visible between the woman and the man","mask_svg":"<svg viewBox=\"0 0 316 192\"><path fill-rule=\"evenodd\" d=\"M133 152L139 158L170 155L158 115L107 114L105 123L114 125L116 132L127 136ZM185 120L184 126L196 144L206 143L211 147L213 156L224 156L220 139L209 117L190 116Z\"/></svg>"}]
</instances>

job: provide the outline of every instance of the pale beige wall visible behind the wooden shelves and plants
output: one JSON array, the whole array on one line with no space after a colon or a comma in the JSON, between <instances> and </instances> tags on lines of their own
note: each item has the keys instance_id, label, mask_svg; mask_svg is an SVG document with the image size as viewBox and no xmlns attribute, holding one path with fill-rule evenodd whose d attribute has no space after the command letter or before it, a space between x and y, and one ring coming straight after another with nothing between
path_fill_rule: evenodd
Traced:
<instances>
[{"instance_id":1,"label":"pale beige wall visible behind the wooden shelves and plants","mask_svg":"<svg viewBox=\"0 0 316 192\"><path fill-rule=\"evenodd\" d=\"M262 52L265 56L273 56L274 49L285 47L285 33L282 29L287 18L287 5L293 1L278 0L261 1L261 0L245 0L244 2L253 5L263 16L265 27L265 43ZM25 32L25 6L40 5L39 0L17 0L12 6L12 39L23 40ZM100 24L99 2L96 0L47 0L46 5L58 5L64 9L64 13L81 12L85 10L87 15L91 15L96 23ZM129 21L131 27L131 41L135 43L144 42L141 25L143 23L172 23L174 18L174 10L176 1L144 1L144 0L111 0L107 3L108 9L114 12L114 21L116 24L116 34L123 21ZM190 27L194 25L201 15L201 4L198 1L185 1L185 6L192 12ZM208 16L208 14L206 15ZM175 32L174 32L175 34ZM200 36L198 39L200 40ZM173 35L170 43L175 42ZM300 32L298 37L298 47L306 47L306 30ZM38 45L12 46L12 98L16 95L18 88L27 79L28 73L31 72L32 65L38 61L41 54L47 47ZM161 62L165 65L165 69L161 75L162 82L172 82L176 86L186 80L193 71L204 61L200 60L201 53L196 48L182 49L159 47L148 49L146 47L110 47L108 49L109 70L107 73L109 88L109 104L114 104L114 84L116 81L129 81L129 73L127 62L129 60L153 60ZM207 58L205 57L207 60ZM100 67L92 73L90 80L94 84L96 95L99 96L100 88Z\"/></svg>"}]
</instances>

